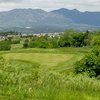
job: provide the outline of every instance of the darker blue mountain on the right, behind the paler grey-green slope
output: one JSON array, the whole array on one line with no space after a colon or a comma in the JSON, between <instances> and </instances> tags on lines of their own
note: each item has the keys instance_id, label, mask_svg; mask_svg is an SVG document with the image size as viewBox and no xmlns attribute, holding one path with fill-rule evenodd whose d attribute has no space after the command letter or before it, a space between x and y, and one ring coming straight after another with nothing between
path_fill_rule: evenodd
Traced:
<instances>
[{"instance_id":1,"label":"darker blue mountain on the right, behind the paler grey-green slope","mask_svg":"<svg viewBox=\"0 0 100 100\"><path fill-rule=\"evenodd\" d=\"M70 18L74 23L100 26L100 12L80 12L77 9L68 10L65 8L52 12Z\"/></svg>"}]
</instances>

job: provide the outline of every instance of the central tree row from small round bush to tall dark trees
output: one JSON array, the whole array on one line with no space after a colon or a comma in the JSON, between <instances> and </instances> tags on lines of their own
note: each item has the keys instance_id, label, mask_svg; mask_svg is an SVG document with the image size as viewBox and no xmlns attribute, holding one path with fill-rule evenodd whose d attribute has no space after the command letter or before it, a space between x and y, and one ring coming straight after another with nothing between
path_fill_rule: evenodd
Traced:
<instances>
[{"instance_id":1,"label":"central tree row from small round bush to tall dark trees","mask_svg":"<svg viewBox=\"0 0 100 100\"><path fill-rule=\"evenodd\" d=\"M32 39L26 39L23 47L27 48L58 48L58 47L83 47L89 45L90 33L65 31L64 34L60 34L55 37L34 36Z\"/></svg>"}]
</instances>

